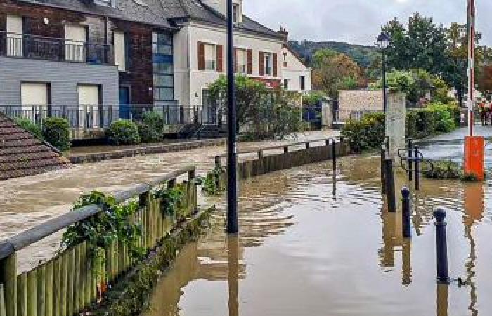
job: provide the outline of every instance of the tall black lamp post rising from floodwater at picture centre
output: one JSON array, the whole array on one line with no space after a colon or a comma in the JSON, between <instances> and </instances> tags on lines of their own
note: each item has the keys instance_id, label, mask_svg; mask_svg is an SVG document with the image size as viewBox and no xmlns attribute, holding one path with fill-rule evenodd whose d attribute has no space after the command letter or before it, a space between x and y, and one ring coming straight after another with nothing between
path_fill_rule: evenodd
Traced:
<instances>
[{"instance_id":1,"label":"tall black lamp post rising from floodwater at picture centre","mask_svg":"<svg viewBox=\"0 0 492 316\"><path fill-rule=\"evenodd\" d=\"M234 83L233 1L227 0L227 232L238 233L238 164Z\"/></svg>"}]
</instances>

